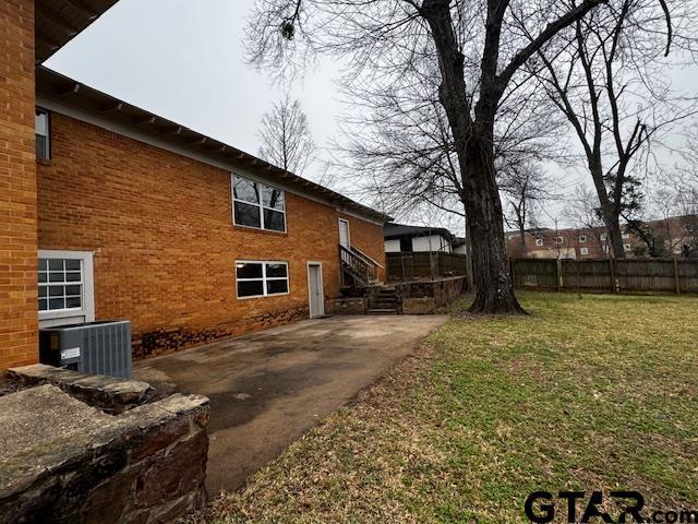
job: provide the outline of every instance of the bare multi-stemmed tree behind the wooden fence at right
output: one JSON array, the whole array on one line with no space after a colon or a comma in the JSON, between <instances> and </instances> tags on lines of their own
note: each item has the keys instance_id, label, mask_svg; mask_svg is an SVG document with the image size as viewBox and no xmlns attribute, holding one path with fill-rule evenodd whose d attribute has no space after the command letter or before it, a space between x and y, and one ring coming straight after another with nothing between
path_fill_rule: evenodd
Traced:
<instances>
[{"instance_id":1,"label":"bare multi-stemmed tree behind the wooden fence at right","mask_svg":"<svg viewBox=\"0 0 698 524\"><path fill-rule=\"evenodd\" d=\"M613 254L624 258L621 218L634 221L642 201L643 164L672 124L696 112L695 99L673 93L662 60L672 43L688 49L690 2L610 0L577 20L568 41L539 51L542 86L567 117L583 151ZM676 20L674 20L676 22ZM676 31L681 29L681 31Z\"/></svg>"}]
</instances>

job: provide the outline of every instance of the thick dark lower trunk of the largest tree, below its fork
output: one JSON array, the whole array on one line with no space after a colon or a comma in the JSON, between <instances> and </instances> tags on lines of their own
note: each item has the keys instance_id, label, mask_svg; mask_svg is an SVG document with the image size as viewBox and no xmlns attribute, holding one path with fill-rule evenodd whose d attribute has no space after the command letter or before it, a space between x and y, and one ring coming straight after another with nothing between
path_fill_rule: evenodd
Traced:
<instances>
[{"instance_id":1,"label":"thick dark lower trunk of the largest tree, below its fork","mask_svg":"<svg viewBox=\"0 0 698 524\"><path fill-rule=\"evenodd\" d=\"M472 241L476 299L473 313L526 313L509 278L502 202L494 170L491 142L471 138L465 148L468 176L466 213Z\"/></svg>"}]
</instances>

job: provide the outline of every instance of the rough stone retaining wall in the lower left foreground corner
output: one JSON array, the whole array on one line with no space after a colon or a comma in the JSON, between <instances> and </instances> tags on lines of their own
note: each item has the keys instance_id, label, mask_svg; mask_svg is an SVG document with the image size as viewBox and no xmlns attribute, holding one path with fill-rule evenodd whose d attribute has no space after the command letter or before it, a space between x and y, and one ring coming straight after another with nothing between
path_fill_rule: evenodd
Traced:
<instances>
[{"instance_id":1,"label":"rough stone retaining wall in the lower left foreground corner","mask_svg":"<svg viewBox=\"0 0 698 524\"><path fill-rule=\"evenodd\" d=\"M166 523L201 508L208 400L113 416L47 383L0 397L0 523Z\"/></svg>"}]
</instances>

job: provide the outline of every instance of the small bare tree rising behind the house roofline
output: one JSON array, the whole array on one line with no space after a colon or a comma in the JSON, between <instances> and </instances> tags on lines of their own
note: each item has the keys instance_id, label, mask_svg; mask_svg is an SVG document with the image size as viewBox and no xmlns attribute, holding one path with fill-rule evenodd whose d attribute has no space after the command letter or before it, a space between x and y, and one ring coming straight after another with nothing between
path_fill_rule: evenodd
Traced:
<instances>
[{"instance_id":1,"label":"small bare tree rising behind the house roofline","mask_svg":"<svg viewBox=\"0 0 698 524\"><path fill-rule=\"evenodd\" d=\"M260 156L275 166L302 175L314 159L313 142L308 117L299 100L289 95L274 104L262 117Z\"/></svg>"}]
</instances>

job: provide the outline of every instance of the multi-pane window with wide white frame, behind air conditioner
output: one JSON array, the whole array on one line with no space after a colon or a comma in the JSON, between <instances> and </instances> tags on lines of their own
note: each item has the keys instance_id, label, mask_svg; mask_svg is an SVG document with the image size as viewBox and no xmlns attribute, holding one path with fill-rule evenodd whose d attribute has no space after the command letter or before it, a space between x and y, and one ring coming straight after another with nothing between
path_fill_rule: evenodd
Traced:
<instances>
[{"instance_id":1,"label":"multi-pane window with wide white frame, behind air conditioner","mask_svg":"<svg viewBox=\"0 0 698 524\"><path fill-rule=\"evenodd\" d=\"M94 321L93 253L39 250L38 254L41 325Z\"/></svg>"}]
</instances>

